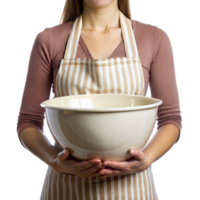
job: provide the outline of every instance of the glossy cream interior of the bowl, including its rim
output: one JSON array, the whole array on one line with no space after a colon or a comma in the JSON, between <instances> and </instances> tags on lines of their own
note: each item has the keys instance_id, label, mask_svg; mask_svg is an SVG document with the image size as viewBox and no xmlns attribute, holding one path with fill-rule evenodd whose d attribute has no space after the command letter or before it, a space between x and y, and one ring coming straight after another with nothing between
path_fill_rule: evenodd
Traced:
<instances>
[{"instance_id":1,"label":"glossy cream interior of the bowl, including its rim","mask_svg":"<svg viewBox=\"0 0 200 200\"><path fill-rule=\"evenodd\" d=\"M93 95L74 95L57 97L45 101L44 107L54 107L57 109L66 108L125 108L125 107L137 107L144 105L152 105L155 103L161 103L161 100L144 97L138 95L114 95L114 94L93 94Z\"/></svg>"}]
</instances>

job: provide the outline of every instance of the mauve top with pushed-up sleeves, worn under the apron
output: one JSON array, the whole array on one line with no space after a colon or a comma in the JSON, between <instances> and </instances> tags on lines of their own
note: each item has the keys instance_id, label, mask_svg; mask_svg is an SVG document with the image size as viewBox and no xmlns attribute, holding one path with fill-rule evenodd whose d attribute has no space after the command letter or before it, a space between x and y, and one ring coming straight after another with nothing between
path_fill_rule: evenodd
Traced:
<instances>
[{"instance_id":1,"label":"mauve top with pushed-up sleeves, worn under the apron","mask_svg":"<svg viewBox=\"0 0 200 200\"><path fill-rule=\"evenodd\" d=\"M50 98L52 83L55 94L56 75L72 26L72 21L69 21L45 27L34 39L16 123L16 138L25 150L19 140L23 129L36 127L44 132L45 109L40 103ZM156 25L132 19L132 28L142 62L145 94L163 101L158 107L156 130L165 124L174 124L179 128L176 141L178 143L181 140L182 116L173 43L169 34ZM116 57L126 57L123 40L109 58ZM82 37L79 40L76 58L92 58Z\"/></svg>"}]
</instances>

